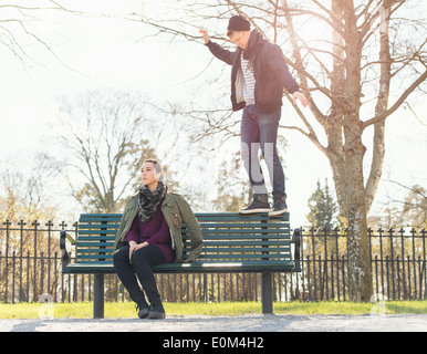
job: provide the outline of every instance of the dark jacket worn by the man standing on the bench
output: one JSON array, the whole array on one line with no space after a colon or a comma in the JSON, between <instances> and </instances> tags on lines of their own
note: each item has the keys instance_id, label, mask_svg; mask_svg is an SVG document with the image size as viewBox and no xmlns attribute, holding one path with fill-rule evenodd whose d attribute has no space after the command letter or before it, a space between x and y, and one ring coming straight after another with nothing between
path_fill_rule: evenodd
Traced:
<instances>
[{"instance_id":1,"label":"dark jacket worn by the man standing on the bench","mask_svg":"<svg viewBox=\"0 0 427 354\"><path fill-rule=\"evenodd\" d=\"M242 110L246 105L242 94L243 74L240 65L242 49L238 46L236 52L231 52L211 41L206 45L215 56L232 65L232 110ZM280 46L264 40L257 30L251 31L248 46L243 51L243 58L249 59L253 67L253 76L256 80L254 97L258 112L271 113L280 108L282 106L283 87L287 88L290 94L300 90L289 72Z\"/></svg>"}]
</instances>

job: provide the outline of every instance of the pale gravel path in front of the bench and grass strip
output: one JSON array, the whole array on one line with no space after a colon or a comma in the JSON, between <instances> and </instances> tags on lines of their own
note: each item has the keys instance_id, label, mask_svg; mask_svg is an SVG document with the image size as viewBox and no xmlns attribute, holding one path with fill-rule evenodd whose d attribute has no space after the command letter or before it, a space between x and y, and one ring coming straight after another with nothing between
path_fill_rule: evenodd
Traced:
<instances>
[{"instance_id":1,"label":"pale gravel path in front of the bench and grass strip","mask_svg":"<svg viewBox=\"0 0 427 354\"><path fill-rule=\"evenodd\" d=\"M0 320L0 332L426 332L427 314L168 316L166 320Z\"/></svg>"}]
</instances>

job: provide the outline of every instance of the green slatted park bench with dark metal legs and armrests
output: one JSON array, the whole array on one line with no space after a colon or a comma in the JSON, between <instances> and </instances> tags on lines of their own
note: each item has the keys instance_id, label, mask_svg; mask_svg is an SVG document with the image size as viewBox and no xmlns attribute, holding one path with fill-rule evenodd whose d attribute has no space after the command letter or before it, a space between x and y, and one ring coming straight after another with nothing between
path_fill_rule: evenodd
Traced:
<instances>
[{"instance_id":1,"label":"green slatted park bench with dark metal legs and armrests","mask_svg":"<svg viewBox=\"0 0 427 354\"><path fill-rule=\"evenodd\" d=\"M104 317L104 274L115 273L114 239L121 214L82 214L76 240L61 231L62 272L94 274L94 319ZM191 263L165 263L154 267L156 273L261 273L262 313L273 312L273 272L298 272L300 269L300 230L291 238L289 214L270 218L267 214L196 214L200 223L204 250ZM183 223L184 254L190 249ZM75 247L70 262L66 240ZM291 243L294 243L293 257Z\"/></svg>"}]
</instances>

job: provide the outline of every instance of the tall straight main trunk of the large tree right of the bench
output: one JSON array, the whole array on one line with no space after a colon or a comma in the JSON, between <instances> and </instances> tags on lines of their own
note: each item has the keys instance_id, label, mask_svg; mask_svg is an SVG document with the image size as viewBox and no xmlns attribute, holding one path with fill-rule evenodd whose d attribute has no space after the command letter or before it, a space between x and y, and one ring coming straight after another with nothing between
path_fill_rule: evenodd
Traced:
<instances>
[{"instance_id":1,"label":"tall straight main trunk of the large tree right of the bench","mask_svg":"<svg viewBox=\"0 0 427 354\"><path fill-rule=\"evenodd\" d=\"M350 299L369 301L373 290L369 240L367 237L367 207L363 178L363 157L366 147L362 143L363 123L361 107L362 38L357 30L355 11L344 8L345 33L345 98L348 111L344 114L344 166L346 181L345 217L348 222L348 274Z\"/></svg>"}]
</instances>

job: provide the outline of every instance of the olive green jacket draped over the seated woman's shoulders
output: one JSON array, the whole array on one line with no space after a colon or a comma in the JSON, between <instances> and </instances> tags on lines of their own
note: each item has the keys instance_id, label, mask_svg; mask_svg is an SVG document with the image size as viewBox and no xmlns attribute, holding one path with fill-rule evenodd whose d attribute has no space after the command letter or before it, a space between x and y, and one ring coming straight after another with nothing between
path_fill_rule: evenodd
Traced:
<instances>
[{"instance_id":1,"label":"olive green jacket draped over the seated woman's shoulders","mask_svg":"<svg viewBox=\"0 0 427 354\"><path fill-rule=\"evenodd\" d=\"M181 196L174 192L168 192L162 204L162 211L169 226L171 247L176 254L175 262L187 263L195 261L202 250L204 240L201 238L200 226L195 215L192 214L190 206ZM137 212L138 194L135 194L127 201L125 211L123 212L121 225L114 242L114 251L127 244L125 237L127 231L131 229L132 222L134 221ZM191 244L191 251L187 252L185 259L183 259L183 221L186 223Z\"/></svg>"}]
</instances>

